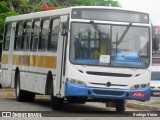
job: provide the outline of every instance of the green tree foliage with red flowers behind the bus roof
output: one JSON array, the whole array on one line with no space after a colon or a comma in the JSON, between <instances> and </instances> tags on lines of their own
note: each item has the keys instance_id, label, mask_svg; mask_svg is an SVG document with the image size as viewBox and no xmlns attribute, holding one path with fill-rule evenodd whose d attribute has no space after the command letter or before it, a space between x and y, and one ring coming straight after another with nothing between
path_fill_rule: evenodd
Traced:
<instances>
[{"instance_id":1,"label":"green tree foliage with red flowers behind the bus roof","mask_svg":"<svg viewBox=\"0 0 160 120\"><path fill-rule=\"evenodd\" d=\"M69 6L114 6L120 7L115 0L2 0L0 1L0 49L3 39L4 20L7 16L51 10Z\"/></svg>"}]
</instances>

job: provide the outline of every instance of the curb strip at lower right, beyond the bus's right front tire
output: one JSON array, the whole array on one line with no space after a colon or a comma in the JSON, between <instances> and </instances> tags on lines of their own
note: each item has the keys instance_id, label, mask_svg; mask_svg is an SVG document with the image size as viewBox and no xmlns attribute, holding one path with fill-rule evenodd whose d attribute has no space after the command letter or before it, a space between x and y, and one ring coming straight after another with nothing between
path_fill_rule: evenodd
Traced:
<instances>
[{"instance_id":1,"label":"curb strip at lower right, beyond the bus's right front tire","mask_svg":"<svg viewBox=\"0 0 160 120\"><path fill-rule=\"evenodd\" d=\"M139 109L139 110L160 111L160 106L146 105L146 104L144 104L144 103L145 103L145 102L137 103L137 102L135 101L135 102L133 103L133 102L127 101L126 106L127 106L127 107L130 107L130 108L136 108L136 109Z\"/></svg>"}]
</instances>

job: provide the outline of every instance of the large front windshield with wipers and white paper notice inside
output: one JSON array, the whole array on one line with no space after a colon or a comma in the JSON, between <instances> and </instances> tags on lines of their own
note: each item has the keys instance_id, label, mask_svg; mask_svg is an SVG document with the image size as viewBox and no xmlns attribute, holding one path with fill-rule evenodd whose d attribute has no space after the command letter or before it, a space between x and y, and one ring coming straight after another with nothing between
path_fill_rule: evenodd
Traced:
<instances>
[{"instance_id":1,"label":"large front windshield with wipers and white paper notice inside","mask_svg":"<svg viewBox=\"0 0 160 120\"><path fill-rule=\"evenodd\" d=\"M72 23L73 64L146 68L149 50L149 27Z\"/></svg>"}]
</instances>

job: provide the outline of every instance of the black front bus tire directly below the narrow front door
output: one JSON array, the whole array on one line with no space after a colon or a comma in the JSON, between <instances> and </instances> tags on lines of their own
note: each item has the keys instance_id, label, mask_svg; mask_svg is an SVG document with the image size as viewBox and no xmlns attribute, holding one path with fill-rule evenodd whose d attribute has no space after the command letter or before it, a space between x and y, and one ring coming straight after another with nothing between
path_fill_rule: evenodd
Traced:
<instances>
[{"instance_id":1,"label":"black front bus tire directly below the narrow front door","mask_svg":"<svg viewBox=\"0 0 160 120\"><path fill-rule=\"evenodd\" d=\"M53 110L60 110L63 107L63 98L54 96L53 81L51 85L51 106Z\"/></svg>"}]
</instances>

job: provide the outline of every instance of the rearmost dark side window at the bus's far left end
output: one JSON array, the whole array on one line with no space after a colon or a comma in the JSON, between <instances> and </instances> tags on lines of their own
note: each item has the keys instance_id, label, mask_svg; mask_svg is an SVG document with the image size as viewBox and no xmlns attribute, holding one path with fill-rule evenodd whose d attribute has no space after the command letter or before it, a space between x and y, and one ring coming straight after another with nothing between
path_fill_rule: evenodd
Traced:
<instances>
[{"instance_id":1,"label":"rearmost dark side window at the bus's far left end","mask_svg":"<svg viewBox=\"0 0 160 120\"><path fill-rule=\"evenodd\" d=\"M5 26L3 50L9 50L10 35L11 35L11 23L8 23Z\"/></svg>"}]
</instances>

